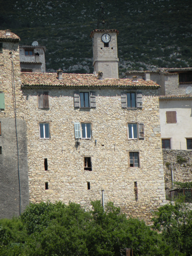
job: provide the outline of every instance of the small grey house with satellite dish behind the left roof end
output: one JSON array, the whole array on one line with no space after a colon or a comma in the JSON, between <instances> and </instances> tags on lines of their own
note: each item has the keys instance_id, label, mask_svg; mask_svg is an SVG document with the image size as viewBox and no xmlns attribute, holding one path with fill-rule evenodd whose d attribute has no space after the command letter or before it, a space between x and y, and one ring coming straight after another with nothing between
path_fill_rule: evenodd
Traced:
<instances>
[{"instance_id":1,"label":"small grey house with satellite dish behind the left roof end","mask_svg":"<svg viewBox=\"0 0 192 256\"><path fill-rule=\"evenodd\" d=\"M33 41L32 45L19 45L21 72L45 72L45 47Z\"/></svg>"}]
</instances>

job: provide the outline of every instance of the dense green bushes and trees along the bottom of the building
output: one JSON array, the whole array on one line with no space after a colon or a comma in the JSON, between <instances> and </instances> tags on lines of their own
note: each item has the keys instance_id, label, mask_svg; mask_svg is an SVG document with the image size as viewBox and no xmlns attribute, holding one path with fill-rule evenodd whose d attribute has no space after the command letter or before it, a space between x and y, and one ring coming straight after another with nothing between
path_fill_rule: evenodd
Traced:
<instances>
[{"instance_id":1,"label":"dense green bushes and trees along the bottom of the building","mask_svg":"<svg viewBox=\"0 0 192 256\"><path fill-rule=\"evenodd\" d=\"M76 203L30 204L20 217L0 220L0 255L122 256L126 247L134 256L191 255L192 211L185 204L161 206L153 222L160 233L127 219L112 202L105 211L99 201L89 211Z\"/></svg>"}]
</instances>

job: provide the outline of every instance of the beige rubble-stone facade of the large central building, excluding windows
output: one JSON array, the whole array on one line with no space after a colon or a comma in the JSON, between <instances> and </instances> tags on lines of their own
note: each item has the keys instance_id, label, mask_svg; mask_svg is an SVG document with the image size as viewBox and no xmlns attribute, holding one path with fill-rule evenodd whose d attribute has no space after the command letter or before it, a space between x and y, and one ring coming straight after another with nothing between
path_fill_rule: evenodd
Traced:
<instances>
[{"instance_id":1,"label":"beige rubble-stone facade of the large central building, excluding windows","mask_svg":"<svg viewBox=\"0 0 192 256\"><path fill-rule=\"evenodd\" d=\"M157 92L142 91L142 109L123 109L121 89L91 90L96 94L96 108L74 108L74 90L68 88L49 89L45 110L37 107L37 90L23 89L30 201L72 201L90 207L91 200L101 200L104 189L105 203L113 201L127 215L148 221L151 212L165 203ZM92 133L91 139L80 139L80 145L74 138L78 121L90 122ZM49 139L39 138L39 122L49 123ZM127 138L128 122L144 123L144 140ZM139 152L139 167L129 167L129 151ZM91 157L92 171L84 170L84 156Z\"/></svg>"}]
</instances>

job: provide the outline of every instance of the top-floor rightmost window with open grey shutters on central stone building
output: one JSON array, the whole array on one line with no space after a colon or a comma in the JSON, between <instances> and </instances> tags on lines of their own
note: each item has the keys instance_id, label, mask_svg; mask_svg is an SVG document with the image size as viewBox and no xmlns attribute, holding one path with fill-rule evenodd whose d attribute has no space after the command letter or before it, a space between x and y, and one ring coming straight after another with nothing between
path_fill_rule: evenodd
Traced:
<instances>
[{"instance_id":1,"label":"top-floor rightmost window with open grey shutters on central stone building","mask_svg":"<svg viewBox=\"0 0 192 256\"><path fill-rule=\"evenodd\" d=\"M142 108L142 93L139 91L121 92L121 107Z\"/></svg>"}]
</instances>

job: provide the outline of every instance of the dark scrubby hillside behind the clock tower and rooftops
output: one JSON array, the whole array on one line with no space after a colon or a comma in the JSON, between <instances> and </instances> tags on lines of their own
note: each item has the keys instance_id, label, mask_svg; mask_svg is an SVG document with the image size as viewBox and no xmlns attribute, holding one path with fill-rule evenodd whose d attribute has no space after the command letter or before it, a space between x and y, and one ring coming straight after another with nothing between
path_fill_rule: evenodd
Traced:
<instances>
[{"instance_id":1,"label":"dark scrubby hillside behind the clock tower and rooftops","mask_svg":"<svg viewBox=\"0 0 192 256\"><path fill-rule=\"evenodd\" d=\"M119 73L127 69L192 66L191 0L104 0L109 28L119 30ZM46 51L47 71L92 72L90 31L100 13L97 0L6 0L0 29L21 44L37 40Z\"/></svg>"}]
</instances>

